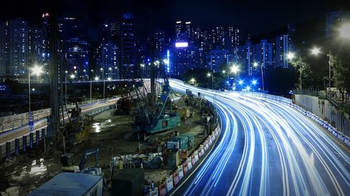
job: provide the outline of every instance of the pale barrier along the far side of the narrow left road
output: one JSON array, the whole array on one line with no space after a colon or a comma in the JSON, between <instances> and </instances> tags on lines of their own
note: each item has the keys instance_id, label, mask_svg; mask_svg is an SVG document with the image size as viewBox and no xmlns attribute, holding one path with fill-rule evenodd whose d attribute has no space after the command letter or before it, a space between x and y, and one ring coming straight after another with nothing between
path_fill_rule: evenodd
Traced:
<instances>
[{"instance_id":1,"label":"pale barrier along the far side of the narrow left road","mask_svg":"<svg viewBox=\"0 0 350 196\"><path fill-rule=\"evenodd\" d=\"M115 98L117 98L117 97L113 96L111 98L92 99L91 101L84 100L84 101L79 102L78 105L81 107L84 105L103 103L105 101L115 99ZM71 109L74 107L76 107L76 105L74 103L67 105L67 109ZM33 111L34 121L39 121L41 119L45 119L48 116L50 116L50 113L51 113L50 108ZM60 112L60 114L62 114L62 112ZM27 125L28 124L28 117L29 117L28 112L22 113L22 114L14 114L11 116L0 117L0 134L7 132L7 131L10 131L10 130L13 130L15 128L20 128L22 126Z\"/></svg>"}]
</instances>

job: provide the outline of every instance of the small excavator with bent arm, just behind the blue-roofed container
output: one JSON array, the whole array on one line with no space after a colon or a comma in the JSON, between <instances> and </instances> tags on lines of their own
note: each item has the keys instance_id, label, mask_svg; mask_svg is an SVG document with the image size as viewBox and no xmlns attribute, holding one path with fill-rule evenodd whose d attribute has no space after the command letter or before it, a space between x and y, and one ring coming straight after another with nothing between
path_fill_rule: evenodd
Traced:
<instances>
[{"instance_id":1,"label":"small excavator with bent arm, just behind the blue-roofed container","mask_svg":"<svg viewBox=\"0 0 350 196\"><path fill-rule=\"evenodd\" d=\"M93 167L87 167L84 169L85 162L89 156L94 155L95 164ZM85 151L83 157L80 160L79 165L73 165L71 163L72 153L64 153L61 157L62 163L62 172L71 172L71 173L87 173L94 175L101 175L101 167L99 167L99 149L90 149Z\"/></svg>"}]
</instances>

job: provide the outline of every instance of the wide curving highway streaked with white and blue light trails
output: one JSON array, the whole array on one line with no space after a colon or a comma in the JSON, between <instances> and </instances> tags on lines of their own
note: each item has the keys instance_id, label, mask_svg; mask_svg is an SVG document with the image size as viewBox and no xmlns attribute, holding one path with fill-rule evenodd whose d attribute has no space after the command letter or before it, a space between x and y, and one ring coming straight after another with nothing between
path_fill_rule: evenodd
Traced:
<instances>
[{"instance_id":1,"label":"wide curving highway streaked with white and blue light trails","mask_svg":"<svg viewBox=\"0 0 350 196\"><path fill-rule=\"evenodd\" d=\"M172 195L350 194L349 148L300 112L274 100L169 84L213 101L222 121L215 149Z\"/></svg>"}]
</instances>

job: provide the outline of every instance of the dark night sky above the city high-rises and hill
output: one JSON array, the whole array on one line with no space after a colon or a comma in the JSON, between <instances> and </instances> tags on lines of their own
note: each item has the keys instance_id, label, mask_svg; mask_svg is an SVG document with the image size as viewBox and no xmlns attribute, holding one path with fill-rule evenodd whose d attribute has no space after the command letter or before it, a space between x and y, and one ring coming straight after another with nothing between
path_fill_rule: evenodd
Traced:
<instances>
[{"instance_id":1,"label":"dark night sky above the city high-rises and hill","mask_svg":"<svg viewBox=\"0 0 350 196\"><path fill-rule=\"evenodd\" d=\"M50 2L52 1L6 1L8 6L1 5L0 17L26 17L29 22L40 22L41 13L50 10ZM193 22L194 27L203 28L233 25L256 35L285 27L289 22L323 19L325 13L332 10L350 10L350 3L346 0L62 0L57 1L56 7L58 15L66 10L80 10L87 13L92 36L97 31L98 24L116 18L125 11L131 11L135 15L137 33L142 37L149 32L150 13L153 28L163 29L169 33L174 31L175 21L183 20Z\"/></svg>"}]
</instances>

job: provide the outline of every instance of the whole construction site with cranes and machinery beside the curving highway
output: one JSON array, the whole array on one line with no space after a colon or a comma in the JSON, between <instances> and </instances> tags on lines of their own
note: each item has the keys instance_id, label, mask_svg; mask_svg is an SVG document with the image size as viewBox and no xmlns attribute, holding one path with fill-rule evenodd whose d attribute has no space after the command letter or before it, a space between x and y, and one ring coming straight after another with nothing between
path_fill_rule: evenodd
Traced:
<instances>
[{"instance_id":1,"label":"whole construction site with cranes and machinery beside the curving highway","mask_svg":"<svg viewBox=\"0 0 350 196\"><path fill-rule=\"evenodd\" d=\"M55 17L51 24L57 32ZM122 93L109 110L68 108L57 77L57 65L65 64L57 33L50 44L48 127L36 142L29 135L30 150L18 139L11 155L6 144L1 195L167 195L216 141L214 105L200 93L174 91L159 61L150 79L119 81Z\"/></svg>"}]
</instances>

